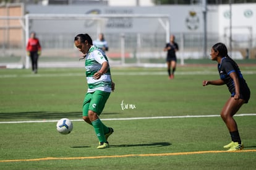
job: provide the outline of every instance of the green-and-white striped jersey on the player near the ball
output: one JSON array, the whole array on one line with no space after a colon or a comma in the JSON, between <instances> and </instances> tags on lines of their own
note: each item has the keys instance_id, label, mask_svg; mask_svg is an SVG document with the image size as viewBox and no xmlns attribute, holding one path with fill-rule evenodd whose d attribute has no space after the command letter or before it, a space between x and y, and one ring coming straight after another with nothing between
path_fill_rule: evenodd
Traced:
<instances>
[{"instance_id":1,"label":"green-and-white striped jersey on the player near the ball","mask_svg":"<svg viewBox=\"0 0 256 170\"><path fill-rule=\"evenodd\" d=\"M109 66L107 72L101 75L100 79L93 79L93 75L101 69L101 64L105 61L108 62L105 53L96 46L91 46L85 57L85 74L88 83L88 93L92 93L95 90L111 92L111 74Z\"/></svg>"}]
</instances>

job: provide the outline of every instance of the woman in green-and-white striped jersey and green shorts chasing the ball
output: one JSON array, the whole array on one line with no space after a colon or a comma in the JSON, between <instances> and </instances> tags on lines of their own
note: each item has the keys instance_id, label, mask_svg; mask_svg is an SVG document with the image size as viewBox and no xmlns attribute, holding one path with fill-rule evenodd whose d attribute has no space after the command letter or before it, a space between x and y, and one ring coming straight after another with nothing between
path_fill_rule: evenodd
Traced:
<instances>
[{"instance_id":1,"label":"woman in green-and-white striped jersey and green shorts chasing the ball","mask_svg":"<svg viewBox=\"0 0 256 170\"><path fill-rule=\"evenodd\" d=\"M106 127L99 118L111 91L114 91L108 58L101 49L93 45L92 38L88 34L75 36L74 43L79 51L85 54L83 59L85 59L88 90L83 101L83 120L93 125L99 140L97 148L109 148L108 137L114 130Z\"/></svg>"}]
</instances>

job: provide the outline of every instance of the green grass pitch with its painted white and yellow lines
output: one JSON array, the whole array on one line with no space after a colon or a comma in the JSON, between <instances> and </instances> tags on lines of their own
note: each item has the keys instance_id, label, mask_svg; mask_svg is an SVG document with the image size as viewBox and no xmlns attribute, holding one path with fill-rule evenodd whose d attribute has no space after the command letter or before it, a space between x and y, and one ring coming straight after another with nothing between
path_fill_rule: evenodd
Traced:
<instances>
[{"instance_id":1,"label":"green grass pitch with its painted white and yellow lines","mask_svg":"<svg viewBox=\"0 0 256 170\"><path fill-rule=\"evenodd\" d=\"M100 116L114 128L105 150L82 121L83 68L0 69L0 169L255 169L256 67L241 70L252 92L235 117L245 148L226 152L218 115L230 94L202 86L219 79L216 66L177 67L174 80L164 68L113 68L116 90ZM73 120L69 135L56 130L62 117Z\"/></svg>"}]
</instances>

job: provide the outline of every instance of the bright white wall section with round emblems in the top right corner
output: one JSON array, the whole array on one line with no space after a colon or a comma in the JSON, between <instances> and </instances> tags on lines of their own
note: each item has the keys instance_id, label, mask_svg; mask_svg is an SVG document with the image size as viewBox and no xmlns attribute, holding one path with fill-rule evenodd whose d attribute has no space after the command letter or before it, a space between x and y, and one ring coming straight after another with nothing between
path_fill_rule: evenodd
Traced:
<instances>
[{"instance_id":1,"label":"bright white wall section with round emblems in the top right corner","mask_svg":"<svg viewBox=\"0 0 256 170\"><path fill-rule=\"evenodd\" d=\"M228 43L230 33L232 33L234 45L239 44L248 47L250 46L250 40L252 40L252 46L255 46L256 4L233 4L231 15L230 20L229 5L219 6L218 33L223 37L222 41Z\"/></svg>"}]
</instances>

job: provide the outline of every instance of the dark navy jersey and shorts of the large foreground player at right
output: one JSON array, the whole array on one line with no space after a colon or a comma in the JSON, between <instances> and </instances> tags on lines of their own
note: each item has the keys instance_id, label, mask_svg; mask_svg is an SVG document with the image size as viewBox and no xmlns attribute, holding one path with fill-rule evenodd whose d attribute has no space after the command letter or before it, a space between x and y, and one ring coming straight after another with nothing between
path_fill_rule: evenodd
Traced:
<instances>
[{"instance_id":1,"label":"dark navy jersey and shorts of the large foreground player at right","mask_svg":"<svg viewBox=\"0 0 256 170\"><path fill-rule=\"evenodd\" d=\"M231 93L231 96L234 96L236 94L236 88L234 85L234 81L229 74L231 74L232 72L235 72L239 80L241 98L244 99L245 101L249 100L250 98L249 87L245 82L240 69L236 66L236 64L234 64L233 61L231 61L231 59L229 59L228 57L223 57L223 59L221 59L221 63L218 64L218 71L220 74L220 79L223 80L224 83L227 85L228 90Z\"/></svg>"}]
</instances>

